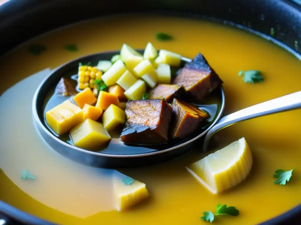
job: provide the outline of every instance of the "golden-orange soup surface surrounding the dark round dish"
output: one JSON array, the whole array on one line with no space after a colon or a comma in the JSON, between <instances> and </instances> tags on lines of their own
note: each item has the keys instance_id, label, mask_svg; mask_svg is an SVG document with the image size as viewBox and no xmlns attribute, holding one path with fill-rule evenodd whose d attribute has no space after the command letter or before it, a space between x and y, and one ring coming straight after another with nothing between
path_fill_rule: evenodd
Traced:
<instances>
[{"instance_id":1,"label":"golden-orange soup surface surrounding the dark round dish","mask_svg":"<svg viewBox=\"0 0 301 225\"><path fill-rule=\"evenodd\" d=\"M173 41L160 42L156 32ZM144 48L147 42L193 58L201 52L224 81L225 114L300 90L301 63L262 38L226 26L189 19L118 16L82 22L32 40L0 60L0 199L60 224L203 224L203 211L218 203L235 206L237 217L219 224L255 224L301 202L300 110L252 119L218 132L215 148L245 137L253 154L247 179L217 195L185 169L204 157L200 146L164 164L119 172L146 184L150 198L118 212L113 205L113 170L77 164L57 154L36 132L32 99L40 82L55 67L91 53L120 49L123 43ZM31 44L46 46L32 55ZM63 46L76 44L79 51ZM240 70L261 70L264 82L244 83ZM21 180L22 170L37 176ZM291 170L286 185L274 184L274 171Z\"/></svg>"}]
</instances>

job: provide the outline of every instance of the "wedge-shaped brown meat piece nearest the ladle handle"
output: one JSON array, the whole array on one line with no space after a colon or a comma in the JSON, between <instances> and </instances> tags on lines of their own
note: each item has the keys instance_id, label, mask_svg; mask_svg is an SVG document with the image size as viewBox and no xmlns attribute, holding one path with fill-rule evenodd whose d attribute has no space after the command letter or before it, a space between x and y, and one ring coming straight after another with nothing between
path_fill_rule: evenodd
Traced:
<instances>
[{"instance_id":1,"label":"wedge-shaped brown meat piece nearest the ladle handle","mask_svg":"<svg viewBox=\"0 0 301 225\"><path fill-rule=\"evenodd\" d=\"M201 122L209 119L209 115L187 102L174 98L172 102L172 137L182 138L196 131Z\"/></svg>"}]
</instances>

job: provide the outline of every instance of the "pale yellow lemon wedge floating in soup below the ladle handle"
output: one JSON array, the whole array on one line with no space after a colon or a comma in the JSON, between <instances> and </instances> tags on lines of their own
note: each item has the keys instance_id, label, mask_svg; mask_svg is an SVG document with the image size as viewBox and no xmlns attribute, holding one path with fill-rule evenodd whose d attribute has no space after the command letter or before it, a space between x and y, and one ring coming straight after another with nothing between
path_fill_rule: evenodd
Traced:
<instances>
[{"instance_id":1,"label":"pale yellow lemon wedge floating in soup below the ladle handle","mask_svg":"<svg viewBox=\"0 0 301 225\"><path fill-rule=\"evenodd\" d=\"M246 179L252 164L252 153L243 137L186 168L210 192L216 194Z\"/></svg>"}]
</instances>

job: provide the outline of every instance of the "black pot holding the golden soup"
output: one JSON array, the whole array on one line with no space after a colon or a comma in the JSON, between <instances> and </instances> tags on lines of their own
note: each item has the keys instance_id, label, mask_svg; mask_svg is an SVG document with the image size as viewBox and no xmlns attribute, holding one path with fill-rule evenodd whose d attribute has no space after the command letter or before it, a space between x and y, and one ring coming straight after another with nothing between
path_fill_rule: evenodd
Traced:
<instances>
[{"instance_id":1,"label":"black pot holding the golden soup","mask_svg":"<svg viewBox=\"0 0 301 225\"><path fill-rule=\"evenodd\" d=\"M268 38L274 28L276 44L300 54L301 7L298 2L301 4L299 0L10 0L0 6L0 55L51 29L126 12L164 12L165 15L205 18L252 29L251 32L258 32L264 38ZM0 201L0 224L2 218L6 224L52 224ZM301 205L262 224L300 224L300 221Z\"/></svg>"}]
</instances>

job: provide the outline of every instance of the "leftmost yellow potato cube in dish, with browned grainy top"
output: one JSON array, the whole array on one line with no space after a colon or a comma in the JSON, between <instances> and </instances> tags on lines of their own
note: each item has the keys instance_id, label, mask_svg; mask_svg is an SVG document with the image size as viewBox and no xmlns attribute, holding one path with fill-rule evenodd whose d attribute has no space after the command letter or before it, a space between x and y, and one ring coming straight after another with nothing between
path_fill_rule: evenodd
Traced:
<instances>
[{"instance_id":1,"label":"leftmost yellow potato cube in dish, with browned grainy top","mask_svg":"<svg viewBox=\"0 0 301 225\"><path fill-rule=\"evenodd\" d=\"M84 121L82 110L66 100L53 109L46 112L48 126L58 135L65 134L71 128Z\"/></svg>"}]
</instances>

